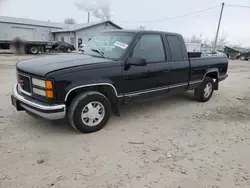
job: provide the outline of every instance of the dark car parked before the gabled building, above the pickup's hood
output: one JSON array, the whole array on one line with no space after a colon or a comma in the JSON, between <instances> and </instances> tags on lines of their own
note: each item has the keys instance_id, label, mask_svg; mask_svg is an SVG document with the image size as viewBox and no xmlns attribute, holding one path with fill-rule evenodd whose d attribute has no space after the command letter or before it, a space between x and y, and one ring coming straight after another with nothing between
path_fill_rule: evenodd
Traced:
<instances>
[{"instance_id":1,"label":"dark car parked before the gabled building, above the pickup's hood","mask_svg":"<svg viewBox=\"0 0 250 188\"><path fill-rule=\"evenodd\" d=\"M55 41L46 46L46 51L57 51L70 53L75 50L74 45L64 41Z\"/></svg>"}]
</instances>

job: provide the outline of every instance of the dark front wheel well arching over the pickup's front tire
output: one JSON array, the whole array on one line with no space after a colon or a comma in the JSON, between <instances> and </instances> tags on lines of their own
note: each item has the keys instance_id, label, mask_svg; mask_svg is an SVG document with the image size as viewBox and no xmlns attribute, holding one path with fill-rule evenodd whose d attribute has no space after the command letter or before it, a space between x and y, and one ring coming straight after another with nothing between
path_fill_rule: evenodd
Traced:
<instances>
[{"instance_id":1,"label":"dark front wheel well arching over the pickup's front tire","mask_svg":"<svg viewBox=\"0 0 250 188\"><path fill-rule=\"evenodd\" d=\"M104 94L108 98L108 100L112 106L113 113L115 115L120 115L120 113L119 113L119 99L116 96L116 92L115 92L114 88L112 88L111 86L107 86L107 85L83 87L83 88L78 88L78 89L71 91L66 99L66 106L69 106L71 104L72 100L77 95L79 95L80 93L86 92L86 91L97 91L97 92Z\"/></svg>"}]
</instances>

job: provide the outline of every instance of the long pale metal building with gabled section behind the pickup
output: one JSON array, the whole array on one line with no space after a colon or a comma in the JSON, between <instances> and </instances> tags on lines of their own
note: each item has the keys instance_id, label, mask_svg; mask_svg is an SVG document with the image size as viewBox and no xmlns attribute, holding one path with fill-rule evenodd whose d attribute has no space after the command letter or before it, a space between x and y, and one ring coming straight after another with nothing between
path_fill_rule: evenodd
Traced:
<instances>
[{"instance_id":1,"label":"long pale metal building with gabled section behind the pickup","mask_svg":"<svg viewBox=\"0 0 250 188\"><path fill-rule=\"evenodd\" d=\"M79 44L104 30L122 29L112 21L68 25L50 21L0 16L0 41L20 37L27 41L65 41L78 49Z\"/></svg>"}]
</instances>

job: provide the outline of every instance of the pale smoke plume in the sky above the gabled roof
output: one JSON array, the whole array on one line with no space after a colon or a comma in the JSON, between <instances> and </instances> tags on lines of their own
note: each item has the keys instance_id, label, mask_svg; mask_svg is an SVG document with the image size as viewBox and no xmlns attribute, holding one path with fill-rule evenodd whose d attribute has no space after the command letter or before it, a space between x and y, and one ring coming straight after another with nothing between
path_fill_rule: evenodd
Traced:
<instances>
[{"instance_id":1,"label":"pale smoke plume in the sky above the gabled roof","mask_svg":"<svg viewBox=\"0 0 250 188\"><path fill-rule=\"evenodd\" d=\"M111 18L108 0L77 0L75 5L80 10L89 12L92 16L101 20L109 20Z\"/></svg>"}]
</instances>

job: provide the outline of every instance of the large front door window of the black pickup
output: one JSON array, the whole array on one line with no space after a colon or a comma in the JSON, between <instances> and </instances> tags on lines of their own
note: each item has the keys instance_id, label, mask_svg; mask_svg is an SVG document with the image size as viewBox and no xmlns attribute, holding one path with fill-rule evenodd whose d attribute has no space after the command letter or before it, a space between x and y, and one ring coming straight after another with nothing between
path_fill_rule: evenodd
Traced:
<instances>
[{"instance_id":1,"label":"large front door window of the black pickup","mask_svg":"<svg viewBox=\"0 0 250 188\"><path fill-rule=\"evenodd\" d=\"M165 51L160 35L142 35L137 42L133 57L140 57L147 62L165 61Z\"/></svg>"}]
</instances>

